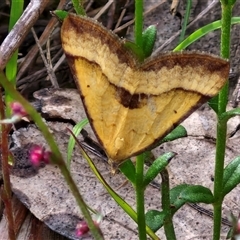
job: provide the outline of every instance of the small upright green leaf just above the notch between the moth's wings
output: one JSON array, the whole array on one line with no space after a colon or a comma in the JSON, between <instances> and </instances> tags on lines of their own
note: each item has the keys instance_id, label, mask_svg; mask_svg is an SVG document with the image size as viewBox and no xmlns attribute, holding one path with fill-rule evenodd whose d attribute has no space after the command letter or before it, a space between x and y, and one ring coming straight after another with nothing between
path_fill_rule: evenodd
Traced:
<instances>
[{"instance_id":1,"label":"small upright green leaf just above the notch between the moth's wings","mask_svg":"<svg viewBox=\"0 0 240 240\"><path fill-rule=\"evenodd\" d=\"M155 25L149 26L142 34L143 53L145 58L151 56L157 37L157 28Z\"/></svg>"}]
</instances>

